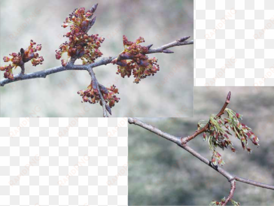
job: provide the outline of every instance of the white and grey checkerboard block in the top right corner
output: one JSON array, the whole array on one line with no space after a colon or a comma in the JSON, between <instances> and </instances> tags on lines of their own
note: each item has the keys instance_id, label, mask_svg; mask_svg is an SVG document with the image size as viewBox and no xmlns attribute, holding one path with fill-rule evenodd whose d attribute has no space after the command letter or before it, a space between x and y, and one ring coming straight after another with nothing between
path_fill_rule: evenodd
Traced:
<instances>
[{"instance_id":1,"label":"white and grey checkerboard block in the top right corner","mask_svg":"<svg viewBox=\"0 0 274 206\"><path fill-rule=\"evenodd\" d=\"M194 85L274 86L274 0L194 1Z\"/></svg>"}]
</instances>

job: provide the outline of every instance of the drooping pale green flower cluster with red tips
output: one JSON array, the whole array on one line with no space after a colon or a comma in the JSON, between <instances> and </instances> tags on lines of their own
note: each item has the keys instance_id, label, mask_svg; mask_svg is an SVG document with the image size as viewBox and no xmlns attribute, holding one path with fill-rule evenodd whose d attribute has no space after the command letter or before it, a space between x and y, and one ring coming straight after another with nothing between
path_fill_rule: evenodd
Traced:
<instances>
[{"instance_id":1,"label":"drooping pale green flower cluster with red tips","mask_svg":"<svg viewBox=\"0 0 274 206\"><path fill-rule=\"evenodd\" d=\"M207 131L203 134L204 141L207 141L206 133L209 133L208 144L212 151L211 162L213 165L224 165L224 161L221 155L217 152L217 148L222 149L231 147L232 152L235 152L232 142L230 141L228 135L232 135L230 131L235 133L235 136L241 141L243 149L247 149L251 153L251 148L248 147L248 139L254 145L259 146L258 137L251 131L251 128L239 122L242 119L242 115L235 113L231 109L226 108L225 111L228 113L227 118L220 118L211 115L209 118L209 127ZM200 124L198 124L200 125Z\"/></svg>"}]
</instances>

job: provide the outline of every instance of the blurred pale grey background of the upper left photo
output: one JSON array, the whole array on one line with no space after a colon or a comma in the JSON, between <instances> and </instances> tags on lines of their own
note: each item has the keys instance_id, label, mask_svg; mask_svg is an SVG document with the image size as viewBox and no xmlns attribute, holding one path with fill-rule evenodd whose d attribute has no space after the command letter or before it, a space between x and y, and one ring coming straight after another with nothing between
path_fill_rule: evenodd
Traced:
<instances>
[{"instance_id":1,"label":"blurred pale grey background of the upper left photo","mask_svg":"<svg viewBox=\"0 0 274 206\"><path fill-rule=\"evenodd\" d=\"M123 35L130 41L141 36L144 45L153 43L154 48L183 36L193 40L193 0L1 0L0 64L6 64L4 56L19 52L34 40L42 44L39 55L45 61L36 67L27 62L26 72L61 65L55 50L67 41L63 35L68 32L61 24L75 8L90 9L96 2L97 20L89 34L105 37L100 49L104 57L123 50ZM139 84L133 83L133 77L116 75L113 64L94 68L101 84L115 84L119 89L121 100L112 109L112 117L193 116L193 45L172 50L174 54L149 55L159 59L160 71ZM170 73L172 69L176 72ZM20 68L15 74L19 72ZM3 72L0 76L3 78ZM6 84L0 88L1 117L102 117L99 103L81 103L77 94L90 82L86 71L63 71L46 79Z\"/></svg>"}]
</instances>

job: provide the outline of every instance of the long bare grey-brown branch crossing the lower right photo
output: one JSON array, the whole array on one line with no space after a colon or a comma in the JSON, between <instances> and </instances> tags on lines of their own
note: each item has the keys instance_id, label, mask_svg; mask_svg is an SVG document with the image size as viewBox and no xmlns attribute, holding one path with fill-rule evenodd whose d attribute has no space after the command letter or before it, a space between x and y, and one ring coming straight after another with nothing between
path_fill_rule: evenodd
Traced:
<instances>
[{"instance_id":1,"label":"long bare grey-brown branch crossing the lower right photo","mask_svg":"<svg viewBox=\"0 0 274 206\"><path fill-rule=\"evenodd\" d=\"M229 103L229 99L230 99L230 92L228 93L228 98L226 100L226 103L223 106L222 110L219 112L219 114L221 114L225 110L226 106ZM274 190L274 186L273 185L267 185L267 184L259 183L259 182L253 181L253 180L248 180L248 179L245 179L245 178L241 178L241 177L238 177L236 175L233 175L233 174L229 173L228 171L226 171L225 169L223 169L221 167L218 167L218 166L213 167L208 159L206 159L200 153L198 153L197 151L195 151L194 149L192 149L191 147L189 147L186 143L182 143L182 141L181 141L182 138L181 137L175 137L175 136L173 136L171 134L165 133L165 132L161 131L160 129L158 129L158 128L150 125L150 124L146 124L146 123L144 123L144 122L142 122L142 121L140 121L140 120L138 120L136 118L128 118L128 123L140 126L140 127L144 128L144 129L149 130L150 132L153 132L153 133L155 133L155 134L157 134L157 135L159 135L159 136L161 136L161 137L163 137L163 138L165 138L165 139L173 142L173 143L178 144L180 147L182 147L184 150L188 151L194 157L198 158L200 161L202 161L203 163L205 163L206 165L210 166L211 168L213 168L214 170L216 170L218 173L220 173L224 177L226 177L228 179L228 182L230 182L230 185L231 185L231 189L230 189L228 198L226 199L227 203L233 197L233 194L234 194L234 191L235 191L235 188L236 188L235 181L239 181L239 182L246 183L246 184L249 184L249 185L254 185L254 186L259 186L259 187L263 187L263 188ZM224 204L224 205L226 205L226 204Z\"/></svg>"}]
</instances>

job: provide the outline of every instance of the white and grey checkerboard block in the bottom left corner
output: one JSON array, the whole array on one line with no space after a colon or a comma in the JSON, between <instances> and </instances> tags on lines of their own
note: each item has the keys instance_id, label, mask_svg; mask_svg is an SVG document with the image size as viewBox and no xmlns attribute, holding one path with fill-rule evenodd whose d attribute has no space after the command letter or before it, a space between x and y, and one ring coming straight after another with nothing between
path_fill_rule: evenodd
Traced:
<instances>
[{"instance_id":1,"label":"white and grey checkerboard block in the bottom left corner","mask_svg":"<svg viewBox=\"0 0 274 206\"><path fill-rule=\"evenodd\" d=\"M126 206L127 136L127 118L0 118L0 205Z\"/></svg>"}]
</instances>

